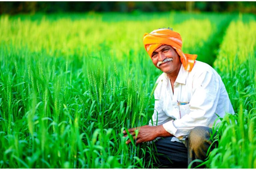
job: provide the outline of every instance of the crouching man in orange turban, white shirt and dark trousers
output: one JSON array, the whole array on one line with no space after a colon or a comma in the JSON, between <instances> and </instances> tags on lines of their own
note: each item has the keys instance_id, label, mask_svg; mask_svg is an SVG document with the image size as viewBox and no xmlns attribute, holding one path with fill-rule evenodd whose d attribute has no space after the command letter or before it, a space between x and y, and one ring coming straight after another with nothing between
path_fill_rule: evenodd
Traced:
<instances>
[{"instance_id":1,"label":"crouching man in orange turban, white shirt and dark trousers","mask_svg":"<svg viewBox=\"0 0 256 170\"><path fill-rule=\"evenodd\" d=\"M163 166L187 168L195 159L205 160L214 121L227 112L234 114L233 107L218 73L208 64L196 61L197 55L181 51L179 33L157 29L145 33L143 43L163 74L154 92L152 121L128 131L135 139L135 129L139 129L136 144L158 138L155 145ZM192 168L198 164L193 163Z\"/></svg>"}]
</instances>

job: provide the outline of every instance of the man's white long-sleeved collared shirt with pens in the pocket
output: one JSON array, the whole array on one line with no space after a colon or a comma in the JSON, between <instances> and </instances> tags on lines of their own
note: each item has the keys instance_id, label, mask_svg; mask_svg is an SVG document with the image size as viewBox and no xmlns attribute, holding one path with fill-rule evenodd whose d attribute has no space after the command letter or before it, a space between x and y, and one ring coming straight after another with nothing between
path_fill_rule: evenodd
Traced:
<instances>
[{"instance_id":1,"label":"man's white long-sleeved collared shirt with pens in the pocket","mask_svg":"<svg viewBox=\"0 0 256 170\"><path fill-rule=\"evenodd\" d=\"M164 129L176 137L172 141L181 142L196 126L212 127L217 115L234 114L221 77L206 63L196 61L191 72L181 66L174 93L166 73L161 74L156 83L155 109L149 125L163 124Z\"/></svg>"}]
</instances>

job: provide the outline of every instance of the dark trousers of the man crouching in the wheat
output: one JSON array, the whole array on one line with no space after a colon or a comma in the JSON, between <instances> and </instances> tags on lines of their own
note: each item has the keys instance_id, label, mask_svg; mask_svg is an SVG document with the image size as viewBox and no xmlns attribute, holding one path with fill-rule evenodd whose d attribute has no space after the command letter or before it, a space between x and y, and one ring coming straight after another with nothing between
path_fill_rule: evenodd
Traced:
<instances>
[{"instance_id":1,"label":"dark trousers of the man crouching in the wheat","mask_svg":"<svg viewBox=\"0 0 256 170\"><path fill-rule=\"evenodd\" d=\"M188 168L190 162L195 159L205 160L207 150L212 141L210 140L212 129L209 127L198 126L192 129L185 140L182 142L171 142L172 137L165 137L155 141L159 168ZM211 147L210 151L213 149ZM199 162L194 162L191 168L198 166ZM204 167L199 167L204 168Z\"/></svg>"}]
</instances>

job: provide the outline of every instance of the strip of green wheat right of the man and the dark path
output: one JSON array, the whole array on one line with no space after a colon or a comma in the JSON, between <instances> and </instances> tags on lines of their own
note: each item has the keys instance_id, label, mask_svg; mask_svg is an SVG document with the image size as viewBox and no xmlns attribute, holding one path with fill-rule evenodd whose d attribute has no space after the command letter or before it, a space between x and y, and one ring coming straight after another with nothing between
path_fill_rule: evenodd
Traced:
<instances>
[{"instance_id":1,"label":"strip of green wheat right of the man and the dark path","mask_svg":"<svg viewBox=\"0 0 256 170\"><path fill-rule=\"evenodd\" d=\"M255 20L242 17L232 21L214 62L236 114L227 114L216 127L219 146L210 154L210 168L256 167L255 26Z\"/></svg>"}]
</instances>

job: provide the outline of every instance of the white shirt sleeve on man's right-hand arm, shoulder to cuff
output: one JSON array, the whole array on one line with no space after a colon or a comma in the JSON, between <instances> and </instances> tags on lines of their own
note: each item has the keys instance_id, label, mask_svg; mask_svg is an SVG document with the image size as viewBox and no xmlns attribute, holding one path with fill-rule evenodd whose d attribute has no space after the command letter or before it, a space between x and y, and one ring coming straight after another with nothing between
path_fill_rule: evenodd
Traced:
<instances>
[{"instance_id":1,"label":"white shirt sleeve on man's right-hand arm, shoulder to cuff","mask_svg":"<svg viewBox=\"0 0 256 170\"><path fill-rule=\"evenodd\" d=\"M181 119L163 124L164 129L181 138L188 135L196 126L209 126L215 114L220 96L218 78L212 72L205 71L193 78L192 96L189 102L189 114Z\"/></svg>"}]
</instances>

